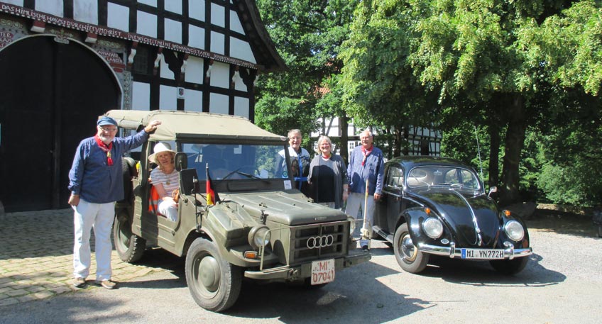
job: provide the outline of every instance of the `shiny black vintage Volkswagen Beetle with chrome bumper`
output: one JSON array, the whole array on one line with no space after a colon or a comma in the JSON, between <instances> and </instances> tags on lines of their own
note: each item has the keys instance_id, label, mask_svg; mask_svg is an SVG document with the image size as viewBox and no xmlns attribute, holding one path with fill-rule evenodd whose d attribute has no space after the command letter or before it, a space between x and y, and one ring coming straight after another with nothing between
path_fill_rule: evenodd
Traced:
<instances>
[{"instance_id":1,"label":"shiny black vintage Volkswagen Beetle with chrome bumper","mask_svg":"<svg viewBox=\"0 0 602 324\"><path fill-rule=\"evenodd\" d=\"M373 233L393 245L397 262L411 273L439 255L488 260L498 272L516 274L532 254L525 223L498 208L473 168L443 157L385 164Z\"/></svg>"}]
</instances>

